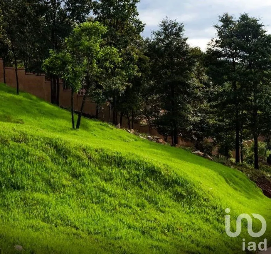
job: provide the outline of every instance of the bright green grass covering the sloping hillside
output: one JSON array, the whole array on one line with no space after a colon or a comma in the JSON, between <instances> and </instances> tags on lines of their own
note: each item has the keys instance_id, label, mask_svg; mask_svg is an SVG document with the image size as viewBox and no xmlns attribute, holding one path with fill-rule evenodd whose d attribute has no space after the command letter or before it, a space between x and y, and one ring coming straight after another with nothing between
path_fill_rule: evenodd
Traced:
<instances>
[{"instance_id":1,"label":"bright green grass covering the sloping hillside","mask_svg":"<svg viewBox=\"0 0 271 254\"><path fill-rule=\"evenodd\" d=\"M16 253L243 253L271 243L271 200L245 174L0 84L0 248ZM241 213L264 236L232 231ZM254 231L261 228L253 221ZM235 231L235 230L234 230Z\"/></svg>"}]
</instances>

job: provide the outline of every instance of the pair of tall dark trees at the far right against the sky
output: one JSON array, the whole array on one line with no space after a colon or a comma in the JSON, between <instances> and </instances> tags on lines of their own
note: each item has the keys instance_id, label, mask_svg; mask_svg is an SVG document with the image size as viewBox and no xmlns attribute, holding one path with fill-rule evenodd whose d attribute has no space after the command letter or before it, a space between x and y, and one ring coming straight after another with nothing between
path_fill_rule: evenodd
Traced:
<instances>
[{"instance_id":1,"label":"pair of tall dark trees at the far right against the sky","mask_svg":"<svg viewBox=\"0 0 271 254\"><path fill-rule=\"evenodd\" d=\"M269 135L270 119L270 55L271 36L260 19L229 14L219 17L215 25L217 39L207 51L208 75L214 84L211 108L214 116L215 138L230 149L235 138L236 163L239 145L245 138L255 141L254 166L259 168L257 140ZM248 131L246 131L248 130ZM223 135L221 135L224 133Z\"/></svg>"}]
</instances>

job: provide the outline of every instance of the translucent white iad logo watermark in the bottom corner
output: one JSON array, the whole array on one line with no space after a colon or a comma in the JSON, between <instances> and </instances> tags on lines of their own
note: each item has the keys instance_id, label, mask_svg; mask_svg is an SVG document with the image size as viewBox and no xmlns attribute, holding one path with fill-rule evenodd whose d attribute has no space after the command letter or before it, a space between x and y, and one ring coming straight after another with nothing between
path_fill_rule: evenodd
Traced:
<instances>
[{"instance_id":1,"label":"translucent white iad logo watermark in the bottom corner","mask_svg":"<svg viewBox=\"0 0 271 254\"><path fill-rule=\"evenodd\" d=\"M230 213L230 209L227 208L225 210L226 213ZM257 214L257 213L253 213L252 216L255 218L255 219L258 219L261 221L262 223L262 229L255 233L253 232L252 230L252 218L250 217L250 215L246 214L246 213L243 213L241 215L238 216L237 220L236 220L236 231L235 232L231 232L230 231L230 215L226 215L225 216L225 228L226 228L226 233L229 237L237 237L238 235L240 235L241 233L241 222L243 219L246 219L247 222L248 222L248 233L250 236L254 237L254 238L258 238L258 237L261 237L265 231L266 231L266 221L265 221L265 218L262 217L262 215L260 214ZM262 248L262 246L264 245L264 248ZM259 250L267 250L267 239L264 240L264 242L260 242L259 245L258 245L258 248ZM245 239L243 239L243 250L245 251ZM248 250L254 250L256 251L256 243L254 242L250 242L248 243Z\"/></svg>"}]
</instances>

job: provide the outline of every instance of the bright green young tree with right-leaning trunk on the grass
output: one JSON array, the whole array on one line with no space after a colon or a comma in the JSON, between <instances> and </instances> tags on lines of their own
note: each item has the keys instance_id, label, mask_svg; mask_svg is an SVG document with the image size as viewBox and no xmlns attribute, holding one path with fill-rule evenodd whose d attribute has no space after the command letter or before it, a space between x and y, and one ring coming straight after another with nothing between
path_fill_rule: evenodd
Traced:
<instances>
[{"instance_id":1,"label":"bright green young tree with right-leaning trunk on the grass","mask_svg":"<svg viewBox=\"0 0 271 254\"><path fill-rule=\"evenodd\" d=\"M104 45L102 35L106 32L106 27L97 21L85 22L76 26L66 39L68 50L72 54L76 54L77 59L81 59L81 64L85 69L84 96L76 124L77 129L80 127L87 97L98 88L97 85L101 82L101 77L104 77L105 81L103 82L106 82L109 79L108 75L111 75L113 66L117 66L121 62L117 49ZM105 72L105 70L108 71ZM112 83L118 82L119 80L116 78L112 81Z\"/></svg>"}]
</instances>

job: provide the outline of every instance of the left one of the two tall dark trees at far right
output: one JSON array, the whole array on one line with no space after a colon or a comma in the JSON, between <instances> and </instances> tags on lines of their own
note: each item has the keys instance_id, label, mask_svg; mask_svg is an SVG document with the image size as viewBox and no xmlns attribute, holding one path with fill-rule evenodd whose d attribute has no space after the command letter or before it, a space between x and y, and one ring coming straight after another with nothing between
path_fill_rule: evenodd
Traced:
<instances>
[{"instance_id":1,"label":"left one of the two tall dark trees at far right","mask_svg":"<svg viewBox=\"0 0 271 254\"><path fill-rule=\"evenodd\" d=\"M209 73L217 85L216 107L224 112L224 117L231 119L225 123L235 128L235 162L240 163L240 94L242 93L238 82L243 65L239 64L240 49L238 48L237 21L229 14L219 17L219 25L215 25L217 38L211 42L208 54L212 55ZM234 114L234 116L233 116ZM228 129L229 127L225 126Z\"/></svg>"}]
</instances>

